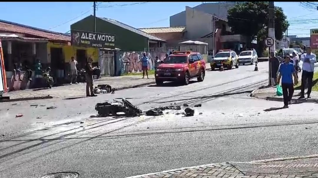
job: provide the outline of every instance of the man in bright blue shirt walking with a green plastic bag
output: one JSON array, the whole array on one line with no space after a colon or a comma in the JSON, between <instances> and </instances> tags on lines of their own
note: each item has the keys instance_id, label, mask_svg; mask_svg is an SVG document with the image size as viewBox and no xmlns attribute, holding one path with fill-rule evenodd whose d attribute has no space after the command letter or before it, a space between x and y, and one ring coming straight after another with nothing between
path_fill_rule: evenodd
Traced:
<instances>
[{"instance_id":1,"label":"man in bright blue shirt walking with a green plastic bag","mask_svg":"<svg viewBox=\"0 0 318 178\"><path fill-rule=\"evenodd\" d=\"M290 63L289 55L284 57L284 62L280 65L279 68L279 76L277 79L277 83L280 83L281 78L281 87L283 89L283 98L284 98L284 107L288 108L288 104L291 104L291 99L294 94L294 85L298 84L298 79L295 73L295 67L293 63ZM294 82L293 77L294 76Z\"/></svg>"}]
</instances>

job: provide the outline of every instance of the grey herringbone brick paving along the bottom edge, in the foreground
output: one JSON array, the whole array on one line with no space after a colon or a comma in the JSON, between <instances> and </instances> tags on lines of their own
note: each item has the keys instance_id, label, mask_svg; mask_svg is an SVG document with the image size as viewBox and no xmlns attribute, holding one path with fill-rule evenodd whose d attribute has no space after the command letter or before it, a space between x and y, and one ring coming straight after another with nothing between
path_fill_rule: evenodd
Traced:
<instances>
[{"instance_id":1,"label":"grey herringbone brick paving along the bottom edge, in the foreground","mask_svg":"<svg viewBox=\"0 0 318 178\"><path fill-rule=\"evenodd\" d=\"M191 168L181 168L161 173L132 176L130 178L318 178L317 172L289 173L289 174L262 174L245 175L231 164L220 163Z\"/></svg>"}]
</instances>

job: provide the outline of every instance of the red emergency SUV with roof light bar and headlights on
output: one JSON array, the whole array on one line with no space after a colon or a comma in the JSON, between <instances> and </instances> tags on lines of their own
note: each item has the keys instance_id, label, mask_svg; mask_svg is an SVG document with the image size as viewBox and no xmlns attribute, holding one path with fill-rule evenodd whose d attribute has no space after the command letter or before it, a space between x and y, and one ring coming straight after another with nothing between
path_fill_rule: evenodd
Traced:
<instances>
[{"instance_id":1,"label":"red emergency SUV with roof light bar and headlights on","mask_svg":"<svg viewBox=\"0 0 318 178\"><path fill-rule=\"evenodd\" d=\"M203 81L205 76L205 61L197 52L174 51L156 68L157 85L164 81L178 81L188 85L190 79Z\"/></svg>"}]
</instances>

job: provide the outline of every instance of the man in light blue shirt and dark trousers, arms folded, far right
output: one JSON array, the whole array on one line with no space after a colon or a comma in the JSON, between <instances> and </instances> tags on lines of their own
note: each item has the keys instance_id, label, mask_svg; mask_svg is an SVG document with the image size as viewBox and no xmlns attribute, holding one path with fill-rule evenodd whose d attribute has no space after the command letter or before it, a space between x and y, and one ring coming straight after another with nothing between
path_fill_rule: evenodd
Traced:
<instances>
[{"instance_id":1,"label":"man in light blue shirt and dark trousers, arms folded, far right","mask_svg":"<svg viewBox=\"0 0 318 178\"><path fill-rule=\"evenodd\" d=\"M305 98L305 85L308 79L307 98L310 98L311 88L313 84L314 68L316 61L316 54L311 52L311 47L306 47L306 53L301 54L302 75L301 75L301 93L299 99Z\"/></svg>"}]
</instances>

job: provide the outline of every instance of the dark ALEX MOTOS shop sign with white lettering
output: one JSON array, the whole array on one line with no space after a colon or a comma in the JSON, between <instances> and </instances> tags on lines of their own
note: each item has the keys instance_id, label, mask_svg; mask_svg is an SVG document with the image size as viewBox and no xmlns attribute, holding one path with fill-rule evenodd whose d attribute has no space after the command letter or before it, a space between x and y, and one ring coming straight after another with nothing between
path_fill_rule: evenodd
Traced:
<instances>
[{"instance_id":1,"label":"dark ALEX MOTOS shop sign with white lettering","mask_svg":"<svg viewBox=\"0 0 318 178\"><path fill-rule=\"evenodd\" d=\"M71 30L71 45L86 48L115 48L115 35Z\"/></svg>"}]
</instances>

